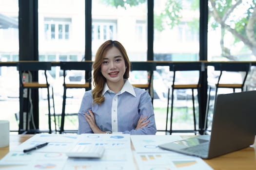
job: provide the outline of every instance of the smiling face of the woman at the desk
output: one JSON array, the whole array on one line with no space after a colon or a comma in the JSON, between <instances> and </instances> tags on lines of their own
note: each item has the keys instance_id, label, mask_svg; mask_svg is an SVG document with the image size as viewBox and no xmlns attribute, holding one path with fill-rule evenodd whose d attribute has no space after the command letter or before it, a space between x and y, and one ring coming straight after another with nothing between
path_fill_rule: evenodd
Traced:
<instances>
[{"instance_id":1,"label":"smiling face of the woman at the desk","mask_svg":"<svg viewBox=\"0 0 256 170\"><path fill-rule=\"evenodd\" d=\"M110 89L114 86L123 86L125 69L126 66L121 52L116 47L110 48L103 57L101 64L101 73L106 78Z\"/></svg>"}]
</instances>

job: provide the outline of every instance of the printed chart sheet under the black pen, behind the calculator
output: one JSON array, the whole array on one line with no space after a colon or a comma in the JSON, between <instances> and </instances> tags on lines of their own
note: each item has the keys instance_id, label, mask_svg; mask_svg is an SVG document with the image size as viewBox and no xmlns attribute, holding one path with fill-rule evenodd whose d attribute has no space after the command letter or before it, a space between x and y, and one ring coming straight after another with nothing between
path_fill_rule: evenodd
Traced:
<instances>
[{"instance_id":1,"label":"printed chart sheet under the black pen, behind the calculator","mask_svg":"<svg viewBox=\"0 0 256 170\"><path fill-rule=\"evenodd\" d=\"M14 151L23 152L24 149L48 142L48 145L35 152L66 153L75 145L102 145L105 149L131 148L130 135L105 134L36 134L29 138Z\"/></svg>"}]
</instances>

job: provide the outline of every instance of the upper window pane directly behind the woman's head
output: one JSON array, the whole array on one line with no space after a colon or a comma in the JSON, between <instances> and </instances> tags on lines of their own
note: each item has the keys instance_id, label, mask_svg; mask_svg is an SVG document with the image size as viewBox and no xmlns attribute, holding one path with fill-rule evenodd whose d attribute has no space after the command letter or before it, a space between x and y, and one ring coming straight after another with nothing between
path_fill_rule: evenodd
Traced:
<instances>
[{"instance_id":1,"label":"upper window pane directly behind the woman's head","mask_svg":"<svg viewBox=\"0 0 256 170\"><path fill-rule=\"evenodd\" d=\"M92 0L92 60L108 39L122 43L130 61L147 60L146 0Z\"/></svg>"}]
</instances>

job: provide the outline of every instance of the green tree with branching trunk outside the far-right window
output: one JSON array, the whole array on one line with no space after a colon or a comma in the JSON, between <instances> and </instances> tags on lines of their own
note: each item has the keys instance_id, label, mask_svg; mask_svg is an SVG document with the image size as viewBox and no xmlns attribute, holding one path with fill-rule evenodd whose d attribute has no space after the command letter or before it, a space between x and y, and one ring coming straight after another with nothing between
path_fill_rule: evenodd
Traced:
<instances>
[{"instance_id":1,"label":"green tree with branching trunk outside the far-right window","mask_svg":"<svg viewBox=\"0 0 256 170\"><path fill-rule=\"evenodd\" d=\"M256 56L256 0L209 0L209 16L214 17L212 28L220 28L220 47L222 56L237 60L230 49L224 46L224 35L230 32L235 41L242 41ZM237 16L236 10L248 7L243 15Z\"/></svg>"}]
</instances>

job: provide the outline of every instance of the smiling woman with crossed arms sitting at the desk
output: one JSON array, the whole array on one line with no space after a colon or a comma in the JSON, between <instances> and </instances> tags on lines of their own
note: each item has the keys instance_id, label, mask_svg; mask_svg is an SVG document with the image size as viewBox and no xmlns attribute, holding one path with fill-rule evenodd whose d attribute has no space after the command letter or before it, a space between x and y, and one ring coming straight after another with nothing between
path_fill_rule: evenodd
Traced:
<instances>
[{"instance_id":1,"label":"smiling woman with crossed arms sitting at the desk","mask_svg":"<svg viewBox=\"0 0 256 170\"><path fill-rule=\"evenodd\" d=\"M127 80L130 61L124 47L118 41L104 42L96 53L93 70L95 88L82 98L78 134L155 135L151 97Z\"/></svg>"}]
</instances>

